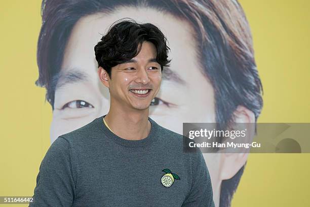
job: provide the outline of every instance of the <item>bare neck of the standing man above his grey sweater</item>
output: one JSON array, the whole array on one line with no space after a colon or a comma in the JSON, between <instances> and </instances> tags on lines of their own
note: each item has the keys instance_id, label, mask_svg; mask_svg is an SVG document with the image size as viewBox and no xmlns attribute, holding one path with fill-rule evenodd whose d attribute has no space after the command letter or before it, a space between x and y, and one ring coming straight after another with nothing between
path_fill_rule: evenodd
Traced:
<instances>
[{"instance_id":1,"label":"bare neck of the standing man above his grey sweater","mask_svg":"<svg viewBox=\"0 0 310 207\"><path fill-rule=\"evenodd\" d=\"M110 107L104 120L113 133L123 139L142 140L148 136L151 128L148 111L149 109L123 111L121 108Z\"/></svg>"}]
</instances>

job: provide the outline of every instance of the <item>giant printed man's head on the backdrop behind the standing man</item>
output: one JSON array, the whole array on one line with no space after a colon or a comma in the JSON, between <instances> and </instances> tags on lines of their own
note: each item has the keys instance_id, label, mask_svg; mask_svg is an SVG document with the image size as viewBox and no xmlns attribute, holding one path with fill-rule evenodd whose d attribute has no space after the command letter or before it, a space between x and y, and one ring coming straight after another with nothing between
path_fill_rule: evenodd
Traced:
<instances>
[{"instance_id":1,"label":"giant printed man's head on the backdrop behind the standing man","mask_svg":"<svg viewBox=\"0 0 310 207\"><path fill-rule=\"evenodd\" d=\"M237 1L50 1L42 4L37 85L53 108L51 142L107 114L109 92L97 77L93 46L123 17L158 25L169 39L170 66L149 116L182 133L183 122L256 122L261 83L251 32ZM227 206L247 155L205 154L216 206Z\"/></svg>"}]
</instances>

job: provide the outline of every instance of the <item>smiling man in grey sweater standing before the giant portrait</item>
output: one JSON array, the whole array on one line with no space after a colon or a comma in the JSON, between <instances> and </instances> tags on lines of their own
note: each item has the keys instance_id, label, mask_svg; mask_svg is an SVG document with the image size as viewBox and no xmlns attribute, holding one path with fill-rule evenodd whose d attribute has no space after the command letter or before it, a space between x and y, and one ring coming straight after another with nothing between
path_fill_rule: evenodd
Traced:
<instances>
[{"instance_id":1,"label":"smiling man in grey sweater standing before the giant portrait","mask_svg":"<svg viewBox=\"0 0 310 207\"><path fill-rule=\"evenodd\" d=\"M63 134L48 150L30 206L214 206L201 151L148 117L169 47L150 23L115 23L95 46L106 116Z\"/></svg>"}]
</instances>

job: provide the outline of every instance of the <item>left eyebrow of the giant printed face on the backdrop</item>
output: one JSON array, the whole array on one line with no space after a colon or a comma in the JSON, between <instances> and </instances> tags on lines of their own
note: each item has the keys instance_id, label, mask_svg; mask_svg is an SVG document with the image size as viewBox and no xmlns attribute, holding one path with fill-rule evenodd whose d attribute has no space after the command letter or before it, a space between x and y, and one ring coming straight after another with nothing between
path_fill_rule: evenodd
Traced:
<instances>
[{"instance_id":1,"label":"left eyebrow of the giant printed face on the backdrop","mask_svg":"<svg viewBox=\"0 0 310 207\"><path fill-rule=\"evenodd\" d=\"M59 72L52 78L52 87L55 90L64 87L67 84L88 81L89 75L81 70L70 69L68 72Z\"/></svg>"}]
</instances>

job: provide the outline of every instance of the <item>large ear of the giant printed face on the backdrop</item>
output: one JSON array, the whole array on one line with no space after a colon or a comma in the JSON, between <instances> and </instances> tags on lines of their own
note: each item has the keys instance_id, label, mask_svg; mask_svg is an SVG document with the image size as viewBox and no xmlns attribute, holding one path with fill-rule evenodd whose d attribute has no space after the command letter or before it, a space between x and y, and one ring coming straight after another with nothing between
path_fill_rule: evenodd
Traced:
<instances>
[{"instance_id":1,"label":"large ear of the giant printed face on the backdrop","mask_svg":"<svg viewBox=\"0 0 310 207\"><path fill-rule=\"evenodd\" d=\"M234 112L235 123L245 123L247 128L247 139L252 139L255 133L255 115L252 111L243 106L238 106ZM236 128L235 128L236 127ZM237 124L232 126L230 130L238 130ZM236 138L238 139L238 138ZM239 169L246 163L248 159L248 152L245 153L222 153L220 170L220 179L227 180L234 177Z\"/></svg>"}]
</instances>

